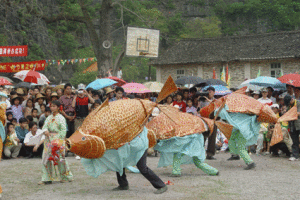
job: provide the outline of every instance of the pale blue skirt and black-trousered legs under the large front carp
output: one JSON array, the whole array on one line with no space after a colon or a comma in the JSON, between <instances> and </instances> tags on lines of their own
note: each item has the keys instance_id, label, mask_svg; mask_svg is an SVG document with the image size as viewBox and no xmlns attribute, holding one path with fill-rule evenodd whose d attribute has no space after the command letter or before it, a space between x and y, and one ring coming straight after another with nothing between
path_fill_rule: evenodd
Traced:
<instances>
[{"instance_id":1,"label":"pale blue skirt and black-trousered legs under the large front carp","mask_svg":"<svg viewBox=\"0 0 300 200\"><path fill-rule=\"evenodd\" d=\"M98 177L106 171L116 171L119 187L114 190L128 190L129 186L125 174L125 167L136 165L140 173L157 189L157 191L154 192L155 194L161 194L167 191L165 183L146 165L147 149L149 147L147 134L148 130L144 127L143 131L132 141L118 149L106 150L101 158L82 158L81 163L87 174Z\"/></svg>"}]
</instances>

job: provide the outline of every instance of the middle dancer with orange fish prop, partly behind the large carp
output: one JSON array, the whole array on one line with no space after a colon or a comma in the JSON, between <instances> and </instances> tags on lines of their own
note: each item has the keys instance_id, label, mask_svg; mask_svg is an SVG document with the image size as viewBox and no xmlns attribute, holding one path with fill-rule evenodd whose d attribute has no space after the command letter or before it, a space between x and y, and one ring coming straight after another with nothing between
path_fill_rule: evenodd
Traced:
<instances>
[{"instance_id":1,"label":"middle dancer with orange fish prop, partly behind the large carp","mask_svg":"<svg viewBox=\"0 0 300 200\"><path fill-rule=\"evenodd\" d=\"M146 126L159 140L154 147L160 152L158 167L173 165L171 176L179 177L181 164L194 163L206 174L218 175L216 168L204 163L206 156L203 135L210 135L217 130L214 121L180 112L172 106L160 106L160 109L162 113ZM223 123L217 122L217 126L219 124ZM229 124L223 124L222 128L225 126L228 130L232 129Z\"/></svg>"}]
</instances>

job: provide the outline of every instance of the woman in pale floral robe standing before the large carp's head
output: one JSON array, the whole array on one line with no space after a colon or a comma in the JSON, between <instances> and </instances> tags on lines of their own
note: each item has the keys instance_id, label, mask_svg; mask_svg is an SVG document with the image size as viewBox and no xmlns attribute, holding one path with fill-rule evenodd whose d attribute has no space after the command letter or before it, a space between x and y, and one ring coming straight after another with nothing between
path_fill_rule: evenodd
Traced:
<instances>
[{"instance_id":1,"label":"woman in pale floral robe standing before the large carp's head","mask_svg":"<svg viewBox=\"0 0 300 200\"><path fill-rule=\"evenodd\" d=\"M51 102L50 109L52 114L47 117L42 128L46 137L44 140L44 151L42 157L42 181L38 183L39 185L51 184L52 181L73 181L73 174L69 170L68 163L64 158L64 140L67 129L65 118L58 113L59 107L59 101ZM53 151L54 148L56 148L57 151Z\"/></svg>"}]
</instances>

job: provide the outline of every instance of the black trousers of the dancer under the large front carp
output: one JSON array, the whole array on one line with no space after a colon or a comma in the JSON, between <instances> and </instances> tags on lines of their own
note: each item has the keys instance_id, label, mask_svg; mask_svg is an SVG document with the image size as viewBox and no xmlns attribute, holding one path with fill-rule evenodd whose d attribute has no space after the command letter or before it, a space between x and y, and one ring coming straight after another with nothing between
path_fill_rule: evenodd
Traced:
<instances>
[{"instance_id":1,"label":"black trousers of the dancer under the large front carp","mask_svg":"<svg viewBox=\"0 0 300 200\"><path fill-rule=\"evenodd\" d=\"M147 164L147 150L141 157L139 162L136 164L137 168L140 170L141 174L148 180L156 189L165 187L164 182L151 170L148 168ZM128 186L128 181L126 179L125 168L123 169L123 175L117 172L118 183L121 187Z\"/></svg>"}]
</instances>

